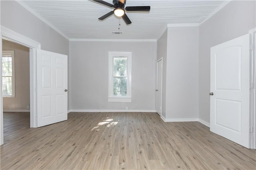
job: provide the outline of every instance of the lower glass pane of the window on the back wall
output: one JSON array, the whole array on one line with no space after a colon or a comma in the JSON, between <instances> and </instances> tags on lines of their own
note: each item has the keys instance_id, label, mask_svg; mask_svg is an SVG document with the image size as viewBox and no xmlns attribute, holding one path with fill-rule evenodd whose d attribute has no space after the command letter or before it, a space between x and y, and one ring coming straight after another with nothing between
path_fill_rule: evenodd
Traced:
<instances>
[{"instance_id":1,"label":"lower glass pane of the window on the back wall","mask_svg":"<svg viewBox=\"0 0 256 170\"><path fill-rule=\"evenodd\" d=\"M113 77L113 96L127 96L127 77Z\"/></svg>"}]
</instances>

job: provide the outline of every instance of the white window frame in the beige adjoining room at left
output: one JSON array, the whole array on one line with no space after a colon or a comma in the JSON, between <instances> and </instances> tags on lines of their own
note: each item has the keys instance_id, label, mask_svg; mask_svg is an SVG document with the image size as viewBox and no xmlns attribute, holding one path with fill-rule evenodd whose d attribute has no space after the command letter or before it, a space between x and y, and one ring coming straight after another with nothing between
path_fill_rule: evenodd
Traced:
<instances>
[{"instance_id":1,"label":"white window frame in the beige adjoining room at left","mask_svg":"<svg viewBox=\"0 0 256 170\"><path fill-rule=\"evenodd\" d=\"M2 51L2 57L6 55L11 55L12 57L12 95L3 95L3 97L15 97L15 59L14 59L14 51ZM2 59L2 58L1 58ZM2 75L3 77L3 75ZM2 83L2 82L1 82ZM1 89L3 93L3 89Z\"/></svg>"}]
</instances>

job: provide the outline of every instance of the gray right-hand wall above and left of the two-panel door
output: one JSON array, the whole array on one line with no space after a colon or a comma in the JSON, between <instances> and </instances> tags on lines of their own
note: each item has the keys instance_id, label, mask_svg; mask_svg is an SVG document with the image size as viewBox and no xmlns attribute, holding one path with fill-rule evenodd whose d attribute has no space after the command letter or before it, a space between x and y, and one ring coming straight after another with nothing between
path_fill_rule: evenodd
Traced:
<instances>
[{"instance_id":1,"label":"gray right-hand wall above and left of the two-panel door","mask_svg":"<svg viewBox=\"0 0 256 170\"><path fill-rule=\"evenodd\" d=\"M255 1L232 1L199 26L199 119L210 123L210 47L256 27Z\"/></svg>"}]
</instances>

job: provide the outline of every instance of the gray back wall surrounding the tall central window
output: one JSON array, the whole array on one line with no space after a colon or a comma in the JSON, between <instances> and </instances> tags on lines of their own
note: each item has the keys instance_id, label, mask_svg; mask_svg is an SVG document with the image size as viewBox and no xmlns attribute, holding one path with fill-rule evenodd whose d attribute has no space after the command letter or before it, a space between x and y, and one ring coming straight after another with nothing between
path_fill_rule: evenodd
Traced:
<instances>
[{"instance_id":1,"label":"gray back wall surrounding the tall central window","mask_svg":"<svg viewBox=\"0 0 256 170\"><path fill-rule=\"evenodd\" d=\"M108 51L132 52L132 102L108 102ZM156 110L156 42L70 42L70 110Z\"/></svg>"}]
</instances>

